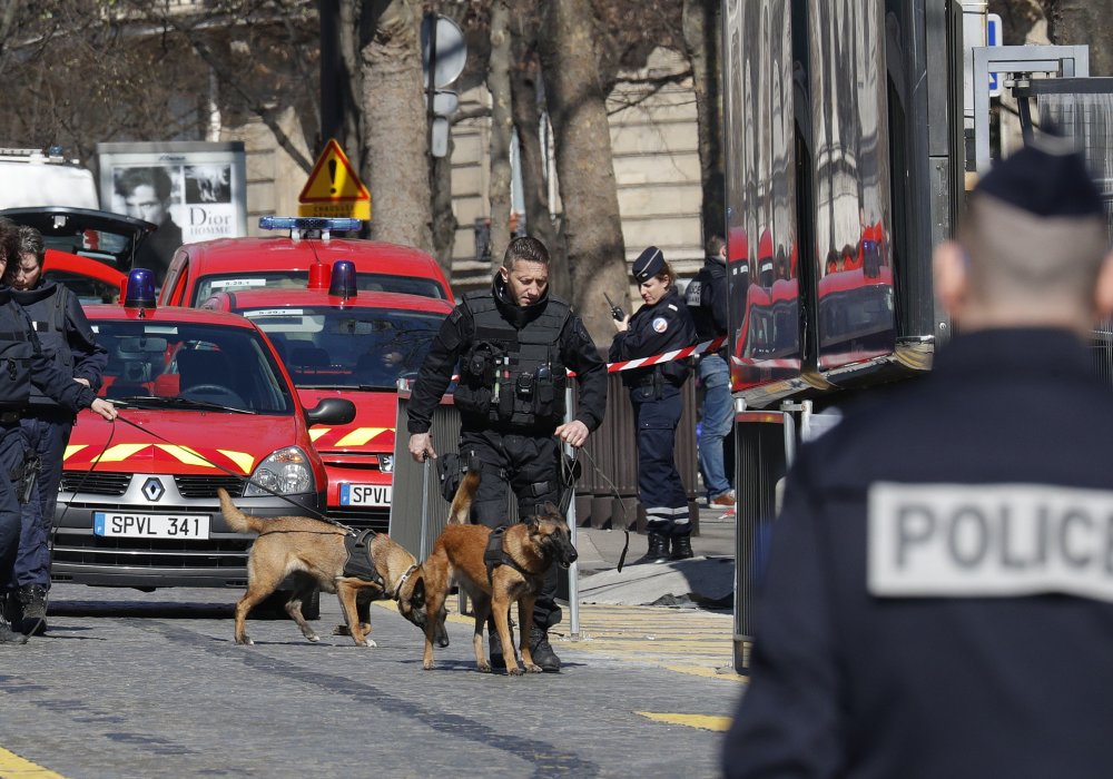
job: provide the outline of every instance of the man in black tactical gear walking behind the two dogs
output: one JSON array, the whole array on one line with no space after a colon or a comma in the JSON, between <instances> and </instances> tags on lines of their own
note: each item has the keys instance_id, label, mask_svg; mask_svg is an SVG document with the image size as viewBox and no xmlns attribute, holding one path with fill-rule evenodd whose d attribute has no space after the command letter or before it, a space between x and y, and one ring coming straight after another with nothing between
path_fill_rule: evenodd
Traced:
<instances>
[{"instance_id":1,"label":"man in black tactical gear walking behind the two dogs","mask_svg":"<svg viewBox=\"0 0 1113 779\"><path fill-rule=\"evenodd\" d=\"M491 289L464 295L433 341L407 406L410 453L418 462L436 456L429 433L433 410L457 363L453 400L460 451L474 453L483 465L474 517L489 527L505 524L508 485L523 520L545 501L559 504L556 438L583 446L599 427L607 366L580 317L549 295L549 252L536 238L512 240ZM580 383L580 402L575 420L563 424L568 368ZM548 638L561 619L555 594L553 566L534 604L530 633L533 661L545 671L560 670ZM492 635L491 663L501 661L502 647Z\"/></svg>"}]
</instances>

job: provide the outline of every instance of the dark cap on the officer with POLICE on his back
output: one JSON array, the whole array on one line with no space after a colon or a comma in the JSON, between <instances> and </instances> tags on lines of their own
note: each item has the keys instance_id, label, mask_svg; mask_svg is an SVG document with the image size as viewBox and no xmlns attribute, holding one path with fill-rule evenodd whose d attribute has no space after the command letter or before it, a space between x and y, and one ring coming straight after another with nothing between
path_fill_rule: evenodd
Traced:
<instances>
[{"instance_id":1,"label":"dark cap on the officer with POLICE on his back","mask_svg":"<svg viewBox=\"0 0 1113 779\"><path fill-rule=\"evenodd\" d=\"M1086 160L1065 138L1044 135L993 167L974 188L1040 217L1104 216Z\"/></svg>"}]
</instances>

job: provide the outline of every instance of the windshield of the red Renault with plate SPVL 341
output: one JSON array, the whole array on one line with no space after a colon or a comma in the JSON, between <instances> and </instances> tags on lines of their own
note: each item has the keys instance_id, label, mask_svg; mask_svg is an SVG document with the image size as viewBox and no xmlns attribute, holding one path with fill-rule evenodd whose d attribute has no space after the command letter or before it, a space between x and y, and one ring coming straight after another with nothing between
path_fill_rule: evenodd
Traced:
<instances>
[{"instance_id":1,"label":"windshield of the red Renault with plate SPVL 341","mask_svg":"<svg viewBox=\"0 0 1113 779\"><path fill-rule=\"evenodd\" d=\"M257 331L151 319L91 324L108 349L102 397L144 408L294 413L293 393Z\"/></svg>"}]
</instances>

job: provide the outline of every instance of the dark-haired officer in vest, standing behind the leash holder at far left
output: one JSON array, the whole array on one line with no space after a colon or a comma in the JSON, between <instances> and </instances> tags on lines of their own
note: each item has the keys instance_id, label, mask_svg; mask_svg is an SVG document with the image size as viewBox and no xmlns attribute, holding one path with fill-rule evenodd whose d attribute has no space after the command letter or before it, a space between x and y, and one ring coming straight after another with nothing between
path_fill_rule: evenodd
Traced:
<instances>
[{"instance_id":1,"label":"dark-haired officer in vest, standing behind the leash holder at far left","mask_svg":"<svg viewBox=\"0 0 1113 779\"><path fill-rule=\"evenodd\" d=\"M19 252L10 263L6 283L12 297L31 317L42 351L75 381L93 392L108 364L108 352L97 344L92 327L77 296L42 277L46 249L42 235L19 227ZM30 500L21 506L22 530L16 570L8 584L8 621L23 633L47 630L47 592L50 590L50 527L58 503L62 455L73 427L73 412L32 387L30 404L20 420L27 447Z\"/></svg>"}]
</instances>

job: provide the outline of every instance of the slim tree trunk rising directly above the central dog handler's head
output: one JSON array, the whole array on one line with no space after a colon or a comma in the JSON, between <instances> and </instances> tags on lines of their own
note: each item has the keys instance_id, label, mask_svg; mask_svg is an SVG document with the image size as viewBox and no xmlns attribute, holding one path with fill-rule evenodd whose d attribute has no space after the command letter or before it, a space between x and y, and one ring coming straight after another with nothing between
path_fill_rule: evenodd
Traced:
<instances>
[{"instance_id":1,"label":"slim tree trunk rising directly above the central dog handler's head","mask_svg":"<svg viewBox=\"0 0 1113 779\"><path fill-rule=\"evenodd\" d=\"M513 121L510 112L510 3L491 3L491 57L487 65L487 91L491 92L491 179L487 204L491 208L492 270L502 264L510 243L510 141Z\"/></svg>"}]
</instances>

